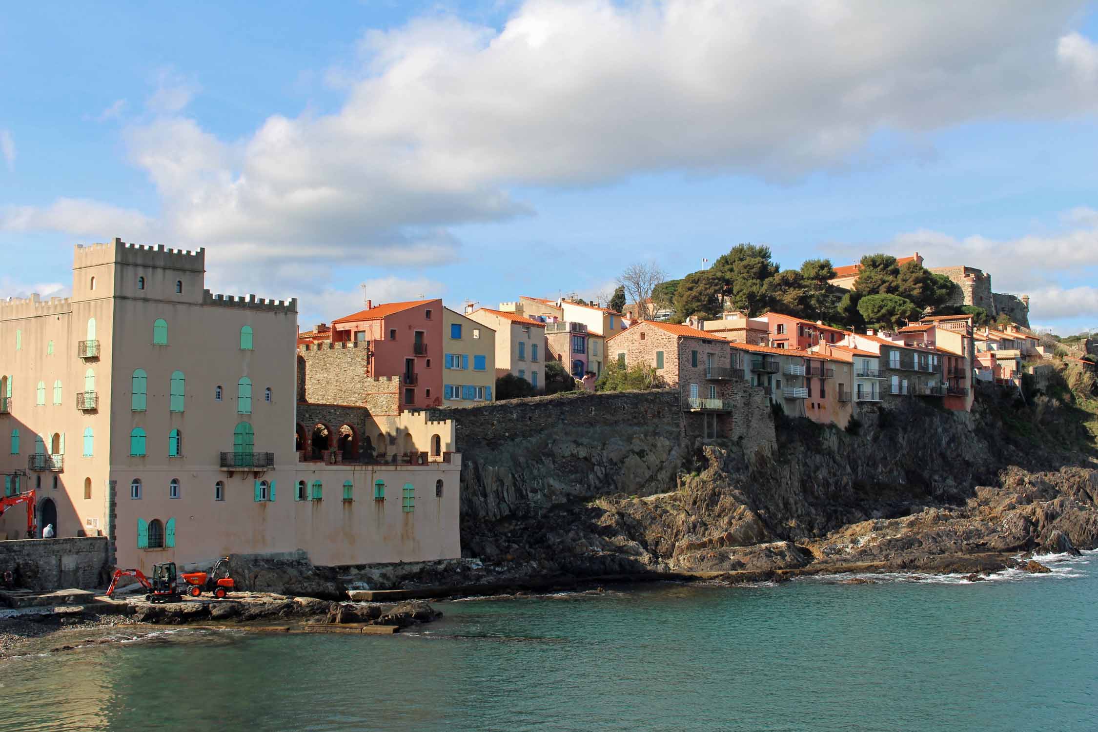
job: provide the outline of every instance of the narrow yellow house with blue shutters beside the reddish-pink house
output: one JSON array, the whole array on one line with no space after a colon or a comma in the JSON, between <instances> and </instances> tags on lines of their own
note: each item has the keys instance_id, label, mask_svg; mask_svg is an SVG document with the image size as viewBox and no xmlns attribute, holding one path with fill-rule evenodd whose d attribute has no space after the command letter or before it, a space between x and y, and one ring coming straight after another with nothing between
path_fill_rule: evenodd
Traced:
<instances>
[{"instance_id":1,"label":"narrow yellow house with blue shutters beside the reddish-pink house","mask_svg":"<svg viewBox=\"0 0 1098 732\"><path fill-rule=\"evenodd\" d=\"M495 329L442 308L442 405L492 402Z\"/></svg>"}]
</instances>

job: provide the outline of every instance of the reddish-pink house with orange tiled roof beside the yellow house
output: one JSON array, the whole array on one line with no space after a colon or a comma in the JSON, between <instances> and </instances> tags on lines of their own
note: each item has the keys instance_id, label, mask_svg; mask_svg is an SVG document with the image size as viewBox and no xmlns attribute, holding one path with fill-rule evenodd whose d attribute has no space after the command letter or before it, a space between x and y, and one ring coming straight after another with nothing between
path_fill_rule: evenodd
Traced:
<instances>
[{"instance_id":1,"label":"reddish-pink house with orange tiled roof beside the yellow house","mask_svg":"<svg viewBox=\"0 0 1098 732\"><path fill-rule=\"evenodd\" d=\"M368 376L400 376L400 409L442 404L442 301L366 303L332 322L332 341L369 342ZM354 378L354 374L348 374Z\"/></svg>"}]
</instances>

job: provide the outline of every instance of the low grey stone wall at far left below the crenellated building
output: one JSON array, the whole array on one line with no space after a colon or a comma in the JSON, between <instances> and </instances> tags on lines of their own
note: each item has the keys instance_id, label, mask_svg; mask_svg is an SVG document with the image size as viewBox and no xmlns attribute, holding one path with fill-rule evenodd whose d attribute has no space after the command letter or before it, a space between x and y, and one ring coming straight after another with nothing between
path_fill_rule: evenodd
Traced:
<instances>
[{"instance_id":1,"label":"low grey stone wall at far left below the crenellated building","mask_svg":"<svg viewBox=\"0 0 1098 732\"><path fill-rule=\"evenodd\" d=\"M105 587L110 565L107 537L0 541L0 572L15 586L35 592Z\"/></svg>"}]
</instances>

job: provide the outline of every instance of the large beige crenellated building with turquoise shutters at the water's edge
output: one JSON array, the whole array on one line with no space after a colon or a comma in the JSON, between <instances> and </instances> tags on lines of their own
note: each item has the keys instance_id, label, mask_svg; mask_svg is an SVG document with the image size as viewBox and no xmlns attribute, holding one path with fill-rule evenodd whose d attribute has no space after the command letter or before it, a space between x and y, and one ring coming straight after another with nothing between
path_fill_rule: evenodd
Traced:
<instances>
[{"instance_id":1,"label":"large beige crenellated building with turquoise shutters at the water's edge","mask_svg":"<svg viewBox=\"0 0 1098 732\"><path fill-rule=\"evenodd\" d=\"M418 429L445 436L435 462L298 462L296 300L211 294L203 249L114 239L76 247L72 269L70 299L0 303L0 472L35 489L40 532L108 536L116 564L146 572L298 549L460 555L452 423ZM0 534L24 525L10 510Z\"/></svg>"}]
</instances>

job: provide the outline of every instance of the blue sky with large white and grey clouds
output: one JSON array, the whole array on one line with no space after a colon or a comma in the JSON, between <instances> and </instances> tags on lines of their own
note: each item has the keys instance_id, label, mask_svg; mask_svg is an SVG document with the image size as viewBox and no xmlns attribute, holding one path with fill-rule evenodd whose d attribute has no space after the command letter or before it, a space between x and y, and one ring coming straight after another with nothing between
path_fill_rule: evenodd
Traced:
<instances>
[{"instance_id":1,"label":"blue sky with large white and grey clouds","mask_svg":"<svg viewBox=\"0 0 1098 732\"><path fill-rule=\"evenodd\" d=\"M977 267L1067 335L1098 329L1096 122L1079 0L18 3L0 296L121 237L309 328L751 243Z\"/></svg>"}]
</instances>

